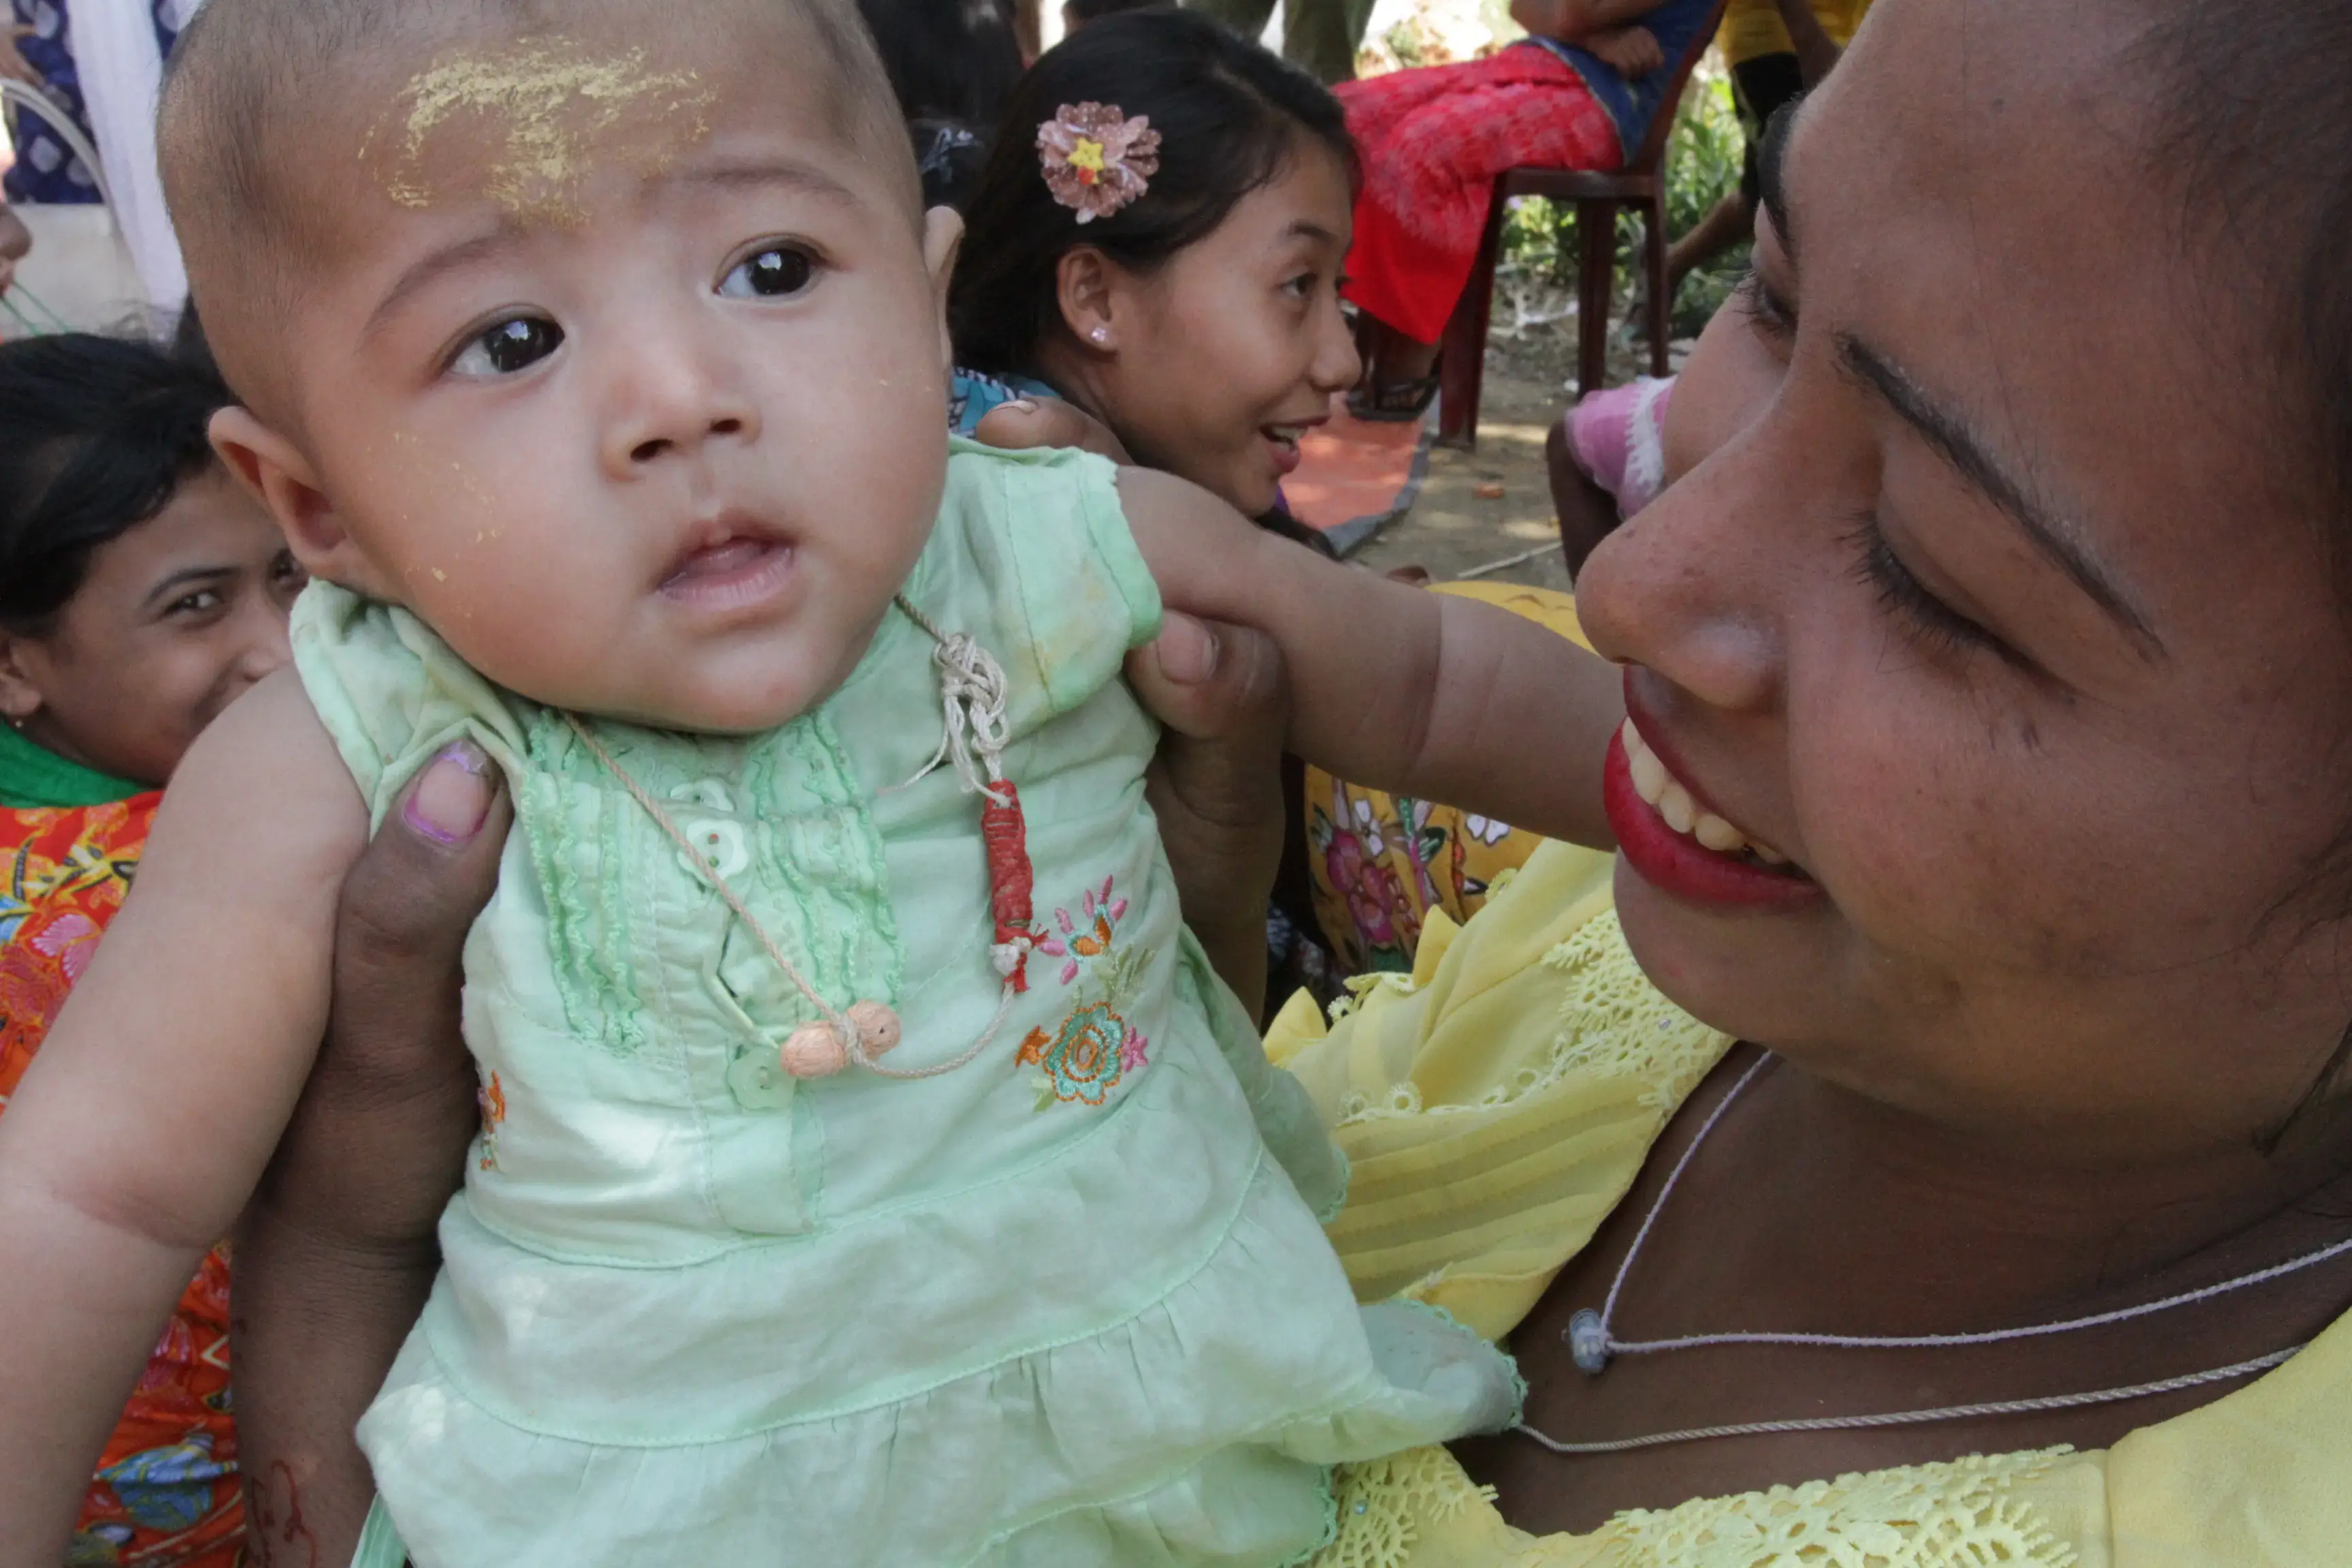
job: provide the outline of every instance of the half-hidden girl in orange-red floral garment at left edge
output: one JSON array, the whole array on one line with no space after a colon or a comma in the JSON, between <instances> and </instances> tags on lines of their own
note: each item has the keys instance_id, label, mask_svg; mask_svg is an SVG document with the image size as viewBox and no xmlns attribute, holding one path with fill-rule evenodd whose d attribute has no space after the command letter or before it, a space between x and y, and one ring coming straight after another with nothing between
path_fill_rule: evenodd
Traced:
<instances>
[{"instance_id":1,"label":"half-hidden girl in orange-red floral garment at left edge","mask_svg":"<svg viewBox=\"0 0 2352 1568\"><path fill-rule=\"evenodd\" d=\"M0 1110L122 907L160 785L287 661L303 576L205 442L219 378L146 343L0 346ZM230 1568L228 1251L85 1474L71 1561Z\"/></svg>"}]
</instances>

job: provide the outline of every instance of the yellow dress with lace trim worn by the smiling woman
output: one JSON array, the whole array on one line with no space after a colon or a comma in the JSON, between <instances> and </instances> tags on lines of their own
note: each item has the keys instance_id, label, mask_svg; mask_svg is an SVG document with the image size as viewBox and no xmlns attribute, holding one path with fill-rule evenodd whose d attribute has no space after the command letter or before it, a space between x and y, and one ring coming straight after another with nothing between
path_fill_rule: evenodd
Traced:
<instances>
[{"instance_id":1,"label":"yellow dress with lace trim worn by the smiling woman","mask_svg":"<svg viewBox=\"0 0 2352 1568\"><path fill-rule=\"evenodd\" d=\"M1411 976L1303 997L1268 1053L1355 1164L1331 1241L1362 1300L1501 1338L1625 1197L1729 1041L1618 936L1611 860L1545 844L1486 910L1437 912ZM2324 1568L2352 1563L2352 1319L2258 1382L2103 1453L2053 1448L1630 1512L1503 1523L1444 1448L1341 1467L1315 1568Z\"/></svg>"}]
</instances>

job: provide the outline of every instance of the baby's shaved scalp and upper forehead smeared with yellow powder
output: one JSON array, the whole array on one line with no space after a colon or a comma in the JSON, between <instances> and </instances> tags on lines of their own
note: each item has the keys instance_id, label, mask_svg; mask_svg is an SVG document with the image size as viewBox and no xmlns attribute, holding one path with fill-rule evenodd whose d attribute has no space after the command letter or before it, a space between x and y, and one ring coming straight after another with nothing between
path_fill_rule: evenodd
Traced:
<instances>
[{"instance_id":1,"label":"baby's shaved scalp and upper forehead smeared with yellow powder","mask_svg":"<svg viewBox=\"0 0 2352 1568\"><path fill-rule=\"evenodd\" d=\"M673 33L691 47L633 42ZM212 0L174 49L160 150L230 386L299 428L282 322L348 254L360 202L430 207L463 186L517 223L562 223L590 169L659 172L741 82L821 110L920 221L896 99L851 0Z\"/></svg>"}]
</instances>

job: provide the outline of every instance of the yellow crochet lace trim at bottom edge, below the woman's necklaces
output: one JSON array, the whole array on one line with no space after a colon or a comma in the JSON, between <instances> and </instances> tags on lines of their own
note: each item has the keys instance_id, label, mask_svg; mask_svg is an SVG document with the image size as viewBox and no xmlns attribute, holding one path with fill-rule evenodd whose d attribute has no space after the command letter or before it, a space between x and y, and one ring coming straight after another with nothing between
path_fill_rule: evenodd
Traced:
<instances>
[{"instance_id":1,"label":"yellow crochet lace trim at bottom edge, below the woman's necklaces","mask_svg":"<svg viewBox=\"0 0 2352 1568\"><path fill-rule=\"evenodd\" d=\"M1618 1514L1602 1530L1611 1542L1602 1561L1611 1568L2072 1568L2074 1547L2034 1502L2013 1495L2070 1453L1915 1465Z\"/></svg>"}]
</instances>

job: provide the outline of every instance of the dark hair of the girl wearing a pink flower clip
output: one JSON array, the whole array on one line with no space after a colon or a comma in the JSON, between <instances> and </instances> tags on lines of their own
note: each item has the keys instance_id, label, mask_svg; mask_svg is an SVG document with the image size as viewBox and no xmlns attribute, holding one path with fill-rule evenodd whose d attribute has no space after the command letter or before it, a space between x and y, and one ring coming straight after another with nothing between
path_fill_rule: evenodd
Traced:
<instances>
[{"instance_id":1,"label":"dark hair of the girl wearing a pink flower clip","mask_svg":"<svg viewBox=\"0 0 2352 1568\"><path fill-rule=\"evenodd\" d=\"M1115 103L1160 132L1150 190L1080 228L1037 165L1037 127L1063 103ZM960 364L1028 374L1061 324L1056 268L1091 244L1148 273L1225 221L1296 143L1327 148L1355 181L1338 99L1305 71L1192 12L1127 12L1087 24L1014 87L1004 129L964 207L964 252L948 287Z\"/></svg>"}]
</instances>

